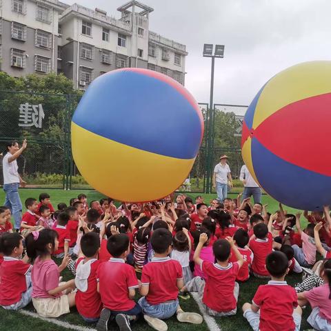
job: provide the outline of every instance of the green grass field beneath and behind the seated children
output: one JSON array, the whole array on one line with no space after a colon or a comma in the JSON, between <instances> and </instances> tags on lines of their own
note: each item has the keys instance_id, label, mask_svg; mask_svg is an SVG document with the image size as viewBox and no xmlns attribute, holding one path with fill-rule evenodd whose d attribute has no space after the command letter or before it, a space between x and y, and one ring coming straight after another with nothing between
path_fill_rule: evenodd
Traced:
<instances>
[{"instance_id":1,"label":"green grass field beneath and behind the seated children","mask_svg":"<svg viewBox=\"0 0 331 331\"><path fill-rule=\"evenodd\" d=\"M35 197L36 199L38 199L39 194L41 192L48 192L48 194L50 194L52 204L54 205L55 208L57 207L57 203L59 202L68 203L68 201L72 197L77 197L77 194L79 193L85 193L88 196L88 201L92 199L101 199L101 197L103 197L102 194L99 194L99 192L95 192L93 190L64 191L64 190L45 190L45 189L21 189L19 193L21 196L21 200L23 202L28 197ZM187 195L194 198L197 194L188 193ZM201 195L203 195L206 202L209 202L210 199L215 197L214 194L201 194ZM237 194L230 194L230 197L236 197L236 196ZM3 200L4 200L4 194L3 191L1 190L0 202ZM272 199L267 195L263 195L262 202L268 203L268 210L270 210L270 212L274 212L279 208L277 201L274 201L274 199ZM293 210L292 208L285 208L285 209L287 209L288 212L295 212L295 210ZM57 261L57 263L60 263L60 261ZM63 280L69 280L72 278L72 274L70 274L69 270L63 270L61 275L63 276ZM286 280L288 281L288 283L290 283L290 285L294 285L295 283L301 281L301 275L289 275L286 278ZM237 314L233 317L215 318L219 330L221 331L251 330L250 325L247 323L247 321L245 321L245 319L243 319L241 306L246 301L251 301L259 285L265 284L266 282L267 281L263 279L252 278L250 279L250 281L240 284ZM183 310L185 311L199 312L199 307L192 297L188 300L180 299L180 304ZM28 310L28 312L35 312L32 303L28 305L28 307L25 308L25 310ZM310 329L310 326L306 322L306 319L309 314L310 314L310 308L309 307L305 308L303 310L303 320L301 322L301 330ZM46 330L61 331L61 330L70 330L70 329L72 330L72 327L74 328L74 330L87 330L86 328L91 328L91 329L95 328L95 324L88 325L87 323L85 323L81 319L81 317L79 317L79 314L75 308L72 309L70 314L63 315L62 317L59 317L57 320L67 322L71 326L69 324L66 324L66 327L60 325L54 325L53 323L50 323L48 321L43 321L42 319L39 318L26 316L26 314L21 314L21 312L12 312L0 308L0 330L3 331L5 330L25 331L27 329L36 330L36 331L46 331ZM166 321L166 323L168 324L168 330L170 331L172 330L219 331L217 330L217 328L214 328L214 330L213 328L208 328L208 325L205 323L205 321L203 321L203 324L201 325L190 325L190 324L179 323L174 317L172 317L172 319L169 319L168 321ZM113 324L110 330L111 331L118 330L117 325ZM138 321L134 326L132 326L132 330L148 331L152 329L144 321Z\"/></svg>"}]
</instances>

